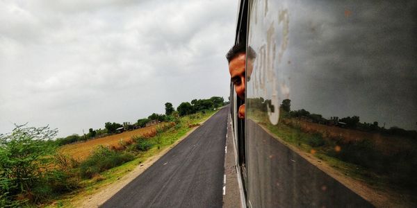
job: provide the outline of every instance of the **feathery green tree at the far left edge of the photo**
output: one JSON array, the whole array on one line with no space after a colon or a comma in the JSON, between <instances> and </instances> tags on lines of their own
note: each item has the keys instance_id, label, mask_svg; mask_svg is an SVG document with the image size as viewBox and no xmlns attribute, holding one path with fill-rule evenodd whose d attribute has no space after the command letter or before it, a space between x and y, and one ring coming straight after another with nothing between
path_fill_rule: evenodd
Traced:
<instances>
[{"instance_id":1,"label":"feathery green tree at the far left edge of the photo","mask_svg":"<svg viewBox=\"0 0 417 208\"><path fill-rule=\"evenodd\" d=\"M48 126L16 125L11 133L0 135L0 184L8 184L6 195L28 193L42 183L52 159L49 156L56 151L51 139L57 132Z\"/></svg>"}]
</instances>

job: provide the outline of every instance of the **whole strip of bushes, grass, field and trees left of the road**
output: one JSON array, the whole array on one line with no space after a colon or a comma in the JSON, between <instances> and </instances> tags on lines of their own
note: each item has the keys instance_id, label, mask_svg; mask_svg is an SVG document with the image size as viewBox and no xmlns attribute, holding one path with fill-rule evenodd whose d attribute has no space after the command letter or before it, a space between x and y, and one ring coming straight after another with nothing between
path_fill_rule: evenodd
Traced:
<instances>
[{"instance_id":1,"label":"whole strip of bushes, grass, field and trees left of the road","mask_svg":"<svg viewBox=\"0 0 417 208\"><path fill-rule=\"evenodd\" d=\"M220 97L192 103L177 111L171 103L165 103L165 114L152 114L132 125L106 122L105 131L90 129L88 135L60 139L54 139L56 129L17 125L13 132L0 135L0 207L44 207L51 202L57 207L71 207L72 198L114 182L147 157L174 144L224 105ZM152 125L140 130L149 122ZM124 137L108 144L106 139L117 135ZM89 154L74 157L76 151L70 146L83 149L83 145L90 148Z\"/></svg>"}]
</instances>

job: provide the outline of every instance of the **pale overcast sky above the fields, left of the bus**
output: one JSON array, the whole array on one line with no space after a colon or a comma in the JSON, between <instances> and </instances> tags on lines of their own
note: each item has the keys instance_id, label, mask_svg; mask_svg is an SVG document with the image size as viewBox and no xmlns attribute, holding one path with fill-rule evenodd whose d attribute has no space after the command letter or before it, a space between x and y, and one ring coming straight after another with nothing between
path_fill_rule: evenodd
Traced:
<instances>
[{"instance_id":1,"label":"pale overcast sky above the fields, left of the bus","mask_svg":"<svg viewBox=\"0 0 417 208\"><path fill-rule=\"evenodd\" d=\"M0 133L58 136L229 94L237 1L0 1Z\"/></svg>"}]
</instances>

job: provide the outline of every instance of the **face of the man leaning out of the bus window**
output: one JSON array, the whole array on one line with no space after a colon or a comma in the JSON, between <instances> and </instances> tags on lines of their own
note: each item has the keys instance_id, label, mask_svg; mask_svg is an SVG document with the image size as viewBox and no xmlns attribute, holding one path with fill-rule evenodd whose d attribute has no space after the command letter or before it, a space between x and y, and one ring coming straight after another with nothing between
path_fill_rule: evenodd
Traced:
<instances>
[{"instance_id":1,"label":"face of the man leaning out of the bus window","mask_svg":"<svg viewBox=\"0 0 417 208\"><path fill-rule=\"evenodd\" d=\"M246 54L240 53L229 62L231 82L242 100L245 100L245 59Z\"/></svg>"}]
</instances>

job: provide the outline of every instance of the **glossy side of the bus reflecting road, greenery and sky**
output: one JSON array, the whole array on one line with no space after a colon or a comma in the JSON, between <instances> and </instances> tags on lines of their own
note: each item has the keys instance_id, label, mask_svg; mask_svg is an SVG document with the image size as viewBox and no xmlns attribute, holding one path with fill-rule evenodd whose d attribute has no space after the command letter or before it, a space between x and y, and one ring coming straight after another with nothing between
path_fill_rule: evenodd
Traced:
<instances>
[{"instance_id":1,"label":"glossy side of the bus reflecting road, greenery and sky","mask_svg":"<svg viewBox=\"0 0 417 208\"><path fill-rule=\"evenodd\" d=\"M248 207L417 206L416 11L241 1L236 41L256 52L234 125Z\"/></svg>"}]
</instances>

